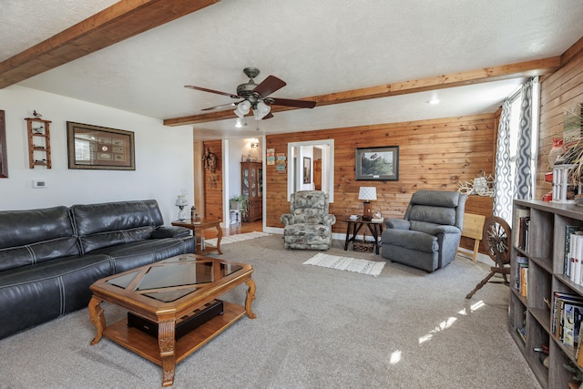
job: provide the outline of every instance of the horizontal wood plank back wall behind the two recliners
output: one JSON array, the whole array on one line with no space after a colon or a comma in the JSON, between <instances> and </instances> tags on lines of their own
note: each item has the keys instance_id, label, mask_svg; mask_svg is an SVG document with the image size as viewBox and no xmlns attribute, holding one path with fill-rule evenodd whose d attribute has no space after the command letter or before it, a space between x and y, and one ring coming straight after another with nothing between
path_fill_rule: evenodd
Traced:
<instances>
[{"instance_id":1,"label":"horizontal wood plank back wall behind the two recliners","mask_svg":"<svg viewBox=\"0 0 583 389\"><path fill-rule=\"evenodd\" d=\"M439 118L414 122L379 124L356 128L333 128L266 136L266 148L287 153L288 142L334 139L334 232L343 233L345 215L362 213L358 200L361 186L375 186L373 210L385 218L403 218L418 189L457 190L458 182L491 174L494 169L496 114ZM399 146L398 181L356 181L355 148ZM288 156L289 157L289 156ZM266 224L282 228L280 216L289 212L287 175L275 166L266 167ZM491 210L490 210L491 211Z\"/></svg>"}]
</instances>

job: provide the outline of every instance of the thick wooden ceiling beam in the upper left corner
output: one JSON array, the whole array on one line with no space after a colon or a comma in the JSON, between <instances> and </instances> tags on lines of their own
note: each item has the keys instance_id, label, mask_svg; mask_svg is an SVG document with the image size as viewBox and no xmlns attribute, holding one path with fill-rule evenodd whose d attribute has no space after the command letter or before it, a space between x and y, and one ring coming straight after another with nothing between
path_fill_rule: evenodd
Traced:
<instances>
[{"instance_id":1,"label":"thick wooden ceiling beam in the upper left corner","mask_svg":"<svg viewBox=\"0 0 583 389\"><path fill-rule=\"evenodd\" d=\"M0 88L137 36L220 0L121 0L0 63Z\"/></svg>"}]
</instances>

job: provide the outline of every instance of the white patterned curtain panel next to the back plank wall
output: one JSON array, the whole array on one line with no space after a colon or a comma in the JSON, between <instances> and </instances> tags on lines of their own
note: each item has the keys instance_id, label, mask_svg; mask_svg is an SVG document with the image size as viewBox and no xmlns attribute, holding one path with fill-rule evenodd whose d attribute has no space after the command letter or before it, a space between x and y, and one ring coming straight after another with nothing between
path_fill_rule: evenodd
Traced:
<instances>
[{"instance_id":1,"label":"white patterned curtain panel next to the back plank wall","mask_svg":"<svg viewBox=\"0 0 583 389\"><path fill-rule=\"evenodd\" d=\"M510 222L512 220L512 181L510 180L510 100L502 103L498 141L496 144L496 167L494 169L494 210L492 214Z\"/></svg>"}]
</instances>

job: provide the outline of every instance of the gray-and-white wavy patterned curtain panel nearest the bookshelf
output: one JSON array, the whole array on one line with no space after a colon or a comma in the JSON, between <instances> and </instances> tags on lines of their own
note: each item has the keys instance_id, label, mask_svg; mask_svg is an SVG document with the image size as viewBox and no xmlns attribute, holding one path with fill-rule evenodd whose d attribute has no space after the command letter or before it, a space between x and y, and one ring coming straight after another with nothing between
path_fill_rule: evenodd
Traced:
<instances>
[{"instance_id":1,"label":"gray-and-white wavy patterned curtain panel nearest the bookshelf","mask_svg":"<svg viewBox=\"0 0 583 389\"><path fill-rule=\"evenodd\" d=\"M520 104L520 122L518 129L517 173L514 177L515 199L532 199L532 85L529 79L522 86L522 102Z\"/></svg>"}]
</instances>

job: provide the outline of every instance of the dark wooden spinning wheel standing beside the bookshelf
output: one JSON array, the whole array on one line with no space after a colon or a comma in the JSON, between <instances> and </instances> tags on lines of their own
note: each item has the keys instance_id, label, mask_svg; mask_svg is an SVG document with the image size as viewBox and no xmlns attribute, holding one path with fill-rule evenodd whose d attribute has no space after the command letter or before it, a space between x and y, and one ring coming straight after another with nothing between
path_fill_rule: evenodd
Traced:
<instances>
[{"instance_id":1,"label":"dark wooden spinning wheel standing beside the bookshelf","mask_svg":"<svg viewBox=\"0 0 583 389\"><path fill-rule=\"evenodd\" d=\"M509 284L508 276L510 275L510 244L512 244L512 232L506 220L493 216L486 220L484 228L484 241L488 249L488 256L495 261L496 265L490 267L490 272L484 280L476 285L472 292L469 292L465 298L471 299L472 296L482 289L484 285L496 274L502 274L503 282L506 286Z\"/></svg>"}]
</instances>

